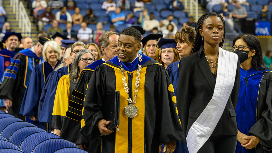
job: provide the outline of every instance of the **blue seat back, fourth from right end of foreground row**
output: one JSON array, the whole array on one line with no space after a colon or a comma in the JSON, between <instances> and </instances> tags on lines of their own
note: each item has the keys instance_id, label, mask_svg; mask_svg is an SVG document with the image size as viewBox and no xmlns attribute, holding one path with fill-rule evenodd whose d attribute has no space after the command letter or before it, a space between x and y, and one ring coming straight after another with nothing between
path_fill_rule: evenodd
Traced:
<instances>
[{"instance_id":1,"label":"blue seat back, fourth from right end of foreground row","mask_svg":"<svg viewBox=\"0 0 272 153\"><path fill-rule=\"evenodd\" d=\"M20 146L21 142L26 138L27 136L31 135L32 133L36 132L44 132L45 130L39 128L39 127L33 127L33 126L27 126L22 127L21 129L18 129L10 136L10 142L13 143L16 146Z\"/></svg>"}]
</instances>

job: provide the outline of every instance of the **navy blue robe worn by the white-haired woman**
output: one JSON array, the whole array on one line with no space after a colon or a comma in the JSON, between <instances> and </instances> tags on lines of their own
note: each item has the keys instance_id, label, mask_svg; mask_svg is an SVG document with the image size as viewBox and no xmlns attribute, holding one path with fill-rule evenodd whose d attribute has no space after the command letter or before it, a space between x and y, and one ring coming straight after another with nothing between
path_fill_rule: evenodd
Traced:
<instances>
[{"instance_id":1,"label":"navy blue robe worn by the white-haired woman","mask_svg":"<svg viewBox=\"0 0 272 153\"><path fill-rule=\"evenodd\" d=\"M61 61L58 61L55 67L60 63ZM39 99L45 84L45 80L53 70L54 69L48 62L36 65L33 68L33 71L30 75L31 81L29 82L28 88L24 93L20 114L24 116L35 115L37 117ZM36 126L48 131L47 123L38 121L34 121L33 123Z\"/></svg>"}]
</instances>

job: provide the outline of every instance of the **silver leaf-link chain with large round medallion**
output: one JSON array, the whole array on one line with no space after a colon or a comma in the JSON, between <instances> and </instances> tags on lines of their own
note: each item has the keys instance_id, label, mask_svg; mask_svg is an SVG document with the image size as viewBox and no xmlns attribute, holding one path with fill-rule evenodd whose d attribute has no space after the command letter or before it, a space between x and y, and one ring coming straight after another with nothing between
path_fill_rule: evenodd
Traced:
<instances>
[{"instance_id":1,"label":"silver leaf-link chain with large round medallion","mask_svg":"<svg viewBox=\"0 0 272 153\"><path fill-rule=\"evenodd\" d=\"M137 98L137 88L138 86L140 85L140 72L141 72L141 68L142 68L142 65L141 65L141 61L142 61L142 55L140 55L138 53L138 60L139 60L139 64L138 64L138 68L137 68L137 77L136 77L136 82L135 82L135 94L134 94L134 100L132 100L130 97L129 97L129 93L128 93L128 83L126 83L126 77L124 75L124 68L123 68L123 65L121 64L121 61L118 57L118 60L119 60L119 64L120 64L120 69L121 69L121 72L122 72L122 76L123 76L123 79L122 79L122 82L123 82L123 86L124 86L124 89L125 89L125 92L128 94L128 99L126 99L130 104L126 106L125 108L125 114L127 117L129 118L133 118L137 115L138 113L138 108L137 106L135 106L134 104L137 102L136 101L136 98Z\"/></svg>"}]
</instances>

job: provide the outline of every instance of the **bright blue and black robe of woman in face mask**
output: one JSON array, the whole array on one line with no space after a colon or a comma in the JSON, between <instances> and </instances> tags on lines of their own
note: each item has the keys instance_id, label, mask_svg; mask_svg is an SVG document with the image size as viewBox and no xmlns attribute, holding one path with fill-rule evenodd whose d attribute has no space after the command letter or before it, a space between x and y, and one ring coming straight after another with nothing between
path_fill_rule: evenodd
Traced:
<instances>
[{"instance_id":1,"label":"bright blue and black robe of woman in face mask","mask_svg":"<svg viewBox=\"0 0 272 153\"><path fill-rule=\"evenodd\" d=\"M240 68L239 98L235 110L237 127L241 133L259 136L260 143L252 149L246 149L237 141L236 153L259 152L257 149L260 149L260 146L266 148L268 152L272 151L272 138L271 134L268 134L271 133L272 118L271 115L267 116L267 113L264 113L271 111L272 92L271 85L268 86L271 80L269 82L269 77L267 77L268 74L270 79L272 78L271 72L271 70L257 71L253 68L246 71ZM269 126L270 130L267 129ZM268 150L269 147L265 145L270 146L271 150Z\"/></svg>"}]
</instances>

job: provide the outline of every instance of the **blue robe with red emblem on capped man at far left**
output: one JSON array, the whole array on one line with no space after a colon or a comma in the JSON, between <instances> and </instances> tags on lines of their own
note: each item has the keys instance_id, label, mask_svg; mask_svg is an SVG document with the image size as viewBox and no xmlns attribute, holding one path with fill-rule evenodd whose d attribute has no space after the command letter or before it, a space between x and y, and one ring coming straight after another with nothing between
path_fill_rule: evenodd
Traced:
<instances>
[{"instance_id":1,"label":"blue robe with red emblem on capped man at far left","mask_svg":"<svg viewBox=\"0 0 272 153\"><path fill-rule=\"evenodd\" d=\"M0 51L0 80L4 75L5 69L10 66L10 62L15 54L15 51L9 51L7 48Z\"/></svg>"}]
</instances>

